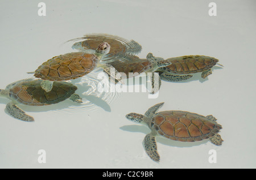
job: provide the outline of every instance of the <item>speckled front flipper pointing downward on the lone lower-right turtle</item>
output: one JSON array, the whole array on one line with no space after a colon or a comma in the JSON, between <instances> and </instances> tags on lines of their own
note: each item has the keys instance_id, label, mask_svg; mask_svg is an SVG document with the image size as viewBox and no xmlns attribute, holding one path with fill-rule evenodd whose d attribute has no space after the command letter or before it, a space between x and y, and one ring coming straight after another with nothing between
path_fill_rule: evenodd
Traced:
<instances>
[{"instance_id":1,"label":"speckled front flipper pointing downward on the lone lower-right turtle","mask_svg":"<svg viewBox=\"0 0 256 180\"><path fill-rule=\"evenodd\" d=\"M152 133L147 134L143 140L143 146L147 155L154 161L159 162L160 156L156 145L155 136Z\"/></svg>"}]
</instances>

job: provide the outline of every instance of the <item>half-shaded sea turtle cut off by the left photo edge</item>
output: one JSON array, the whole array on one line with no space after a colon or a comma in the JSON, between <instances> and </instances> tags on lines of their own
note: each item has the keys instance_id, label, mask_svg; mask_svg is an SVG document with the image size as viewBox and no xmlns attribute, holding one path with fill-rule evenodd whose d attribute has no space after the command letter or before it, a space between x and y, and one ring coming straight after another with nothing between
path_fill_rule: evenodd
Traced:
<instances>
[{"instance_id":1,"label":"half-shaded sea turtle cut off by the left photo edge","mask_svg":"<svg viewBox=\"0 0 256 180\"><path fill-rule=\"evenodd\" d=\"M82 102L79 95L75 93L77 87L71 83L56 82L53 84L52 91L46 92L42 89L41 82L41 79L23 79L7 85L5 89L0 89L0 95L11 100L6 105L5 112L22 121L34 121L34 118L27 115L16 104L44 106L56 104L67 98L77 103Z\"/></svg>"}]
</instances>

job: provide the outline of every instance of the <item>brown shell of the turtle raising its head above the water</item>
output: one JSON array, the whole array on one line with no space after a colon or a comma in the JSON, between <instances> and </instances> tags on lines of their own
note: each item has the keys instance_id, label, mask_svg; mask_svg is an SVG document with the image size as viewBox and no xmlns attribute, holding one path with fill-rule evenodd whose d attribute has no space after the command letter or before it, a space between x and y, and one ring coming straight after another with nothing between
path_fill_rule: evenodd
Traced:
<instances>
[{"instance_id":1,"label":"brown shell of the turtle raising its head above the water","mask_svg":"<svg viewBox=\"0 0 256 180\"><path fill-rule=\"evenodd\" d=\"M34 76L51 81L76 79L91 72L97 66L98 60L94 54L67 53L44 62Z\"/></svg>"}]
</instances>

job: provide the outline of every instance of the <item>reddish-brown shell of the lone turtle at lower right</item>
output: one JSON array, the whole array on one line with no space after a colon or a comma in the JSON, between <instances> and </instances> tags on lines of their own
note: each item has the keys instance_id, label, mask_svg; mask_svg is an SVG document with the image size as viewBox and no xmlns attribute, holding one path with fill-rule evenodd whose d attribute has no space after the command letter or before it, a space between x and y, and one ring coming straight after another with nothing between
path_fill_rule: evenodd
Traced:
<instances>
[{"instance_id":1,"label":"reddish-brown shell of the lone turtle at lower right","mask_svg":"<svg viewBox=\"0 0 256 180\"><path fill-rule=\"evenodd\" d=\"M151 127L159 135L181 142L195 142L214 136L222 127L203 115L164 111L155 115Z\"/></svg>"}]
</instances>

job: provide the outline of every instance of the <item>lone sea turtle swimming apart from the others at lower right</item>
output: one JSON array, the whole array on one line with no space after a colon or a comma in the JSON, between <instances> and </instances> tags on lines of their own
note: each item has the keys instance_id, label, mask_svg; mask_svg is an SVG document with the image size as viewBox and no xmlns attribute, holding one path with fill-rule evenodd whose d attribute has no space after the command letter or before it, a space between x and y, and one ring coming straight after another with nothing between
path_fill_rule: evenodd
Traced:
<instances>
[{"instance_id":1,"label":"lone sea turtle swimming apart from the others at lower right","mask_svg":"<svg viewBox=\"0 0 256 180\"><path fill-rule=\"evenodd\" d=\"M154 161L160 161L156 147L155 136L160 135L171 140L181 142L195 142L209 139L215 145L221 145L223 140L217 134L222 128L216 123L212 115L203 115L184 112L180 110L168 110L158 112L164 102L156 104L142 114L130 113L126 115L130 121L146 123L151 129L143 140L144 149Z\"/></svg>"}]
</instances>

